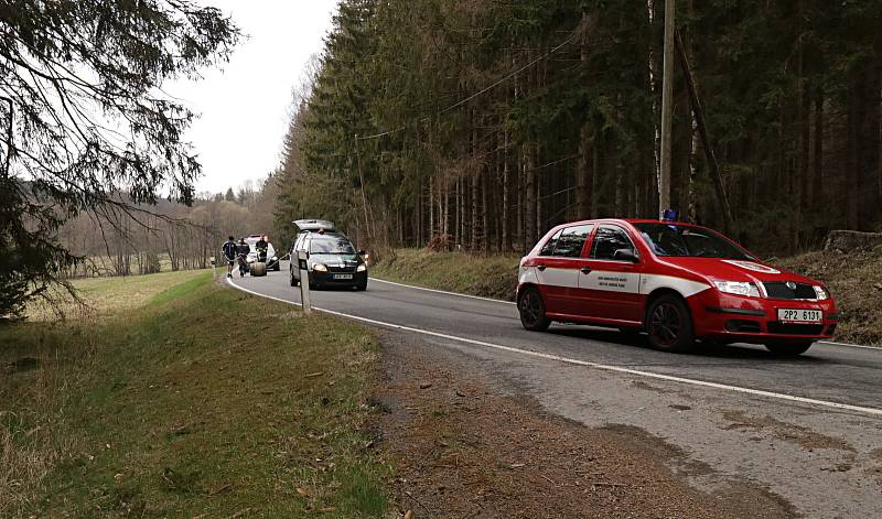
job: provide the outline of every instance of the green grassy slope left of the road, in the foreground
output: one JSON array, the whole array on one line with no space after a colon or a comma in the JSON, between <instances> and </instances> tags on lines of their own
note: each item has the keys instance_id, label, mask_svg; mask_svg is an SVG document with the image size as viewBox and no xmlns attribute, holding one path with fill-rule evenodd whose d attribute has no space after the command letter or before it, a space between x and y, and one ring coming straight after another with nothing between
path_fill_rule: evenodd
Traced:
<instances>
[{"instance_id":1,"label":"green grassy slope left of the road, in the foreground","mask_svg":"<svg viewBox=\"0 0 882 519\"><path fill-rule=\"evenodd\" d=\"M0 328L0 516L383 516L372 336L208 272L153 284L137 311Z\"/></svg>"}]
</instances>

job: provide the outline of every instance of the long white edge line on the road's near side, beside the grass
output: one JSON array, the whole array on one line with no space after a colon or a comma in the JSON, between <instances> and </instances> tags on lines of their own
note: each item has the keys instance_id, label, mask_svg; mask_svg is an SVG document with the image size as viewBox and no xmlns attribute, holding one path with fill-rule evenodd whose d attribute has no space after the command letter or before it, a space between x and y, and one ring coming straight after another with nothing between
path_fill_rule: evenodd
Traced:
<instances>
[{"instance_id":1,"label":"long white edge line on the road's near side, beside the grass","mask_svg":"<svg viewBox=\"0 0 882 519\"><path fill-rule=\"evenodd\" d=\"M265 294L261 294L259 292L255 292L252 290L248 290L248 289L245 289L243 286L239 286L236 283L234 283L233 280L229 279L229 278L227 278L227 283L229 283L230 285L235 286L238 290L241 290L244 292L248 292L250 294L254 294L254 295L257 295L257 296L260 296L260 298L267 298L267 299L271 299L271 300L275 300L275 301L280 301L282 303L288 303L288 304L293 304L293 305L300 306L300 303L297 303L297 302L293 302L293 301L284 300L284 299L281 299L281 298L273 298L272 295L265 295ZM345 318L349 318L349 320L353 320L353 321L358 321L358 322L362 322L362 323L373 324L373 325L376 325L376 326L384 326L384 327L387 327L387 328L401 329L401 331L405 331L405 332L412 332L412 333L417 333L417 334L421 334L421 335L428 335L428 336L431 336L431 337L440 337L440 338L445 338L445 339L450 339L450 340L456 340L456 342L460 342L460 343L474 344L476 346L484 346L484 347L487 347L487 348L499 349L499 350L503 350L503 352L509 352L509 353L526 355L526 356L530 356L530 357L544 358L544 359L548 359L548 360L557 360L557 361L560 361L560 363L570 364L570 365L574 365L574 366L585 366L585 367L589 367L589 368L601 369L601 370L605 370L605 371L614 371L614 372L627 374L627 375L634 375L634 376L637 376L637 377L653 378L653 379L658 379L658 380L668 380L668 381L671 381L671 382L688 383L688 385L691 385L691 386L701 386L701 387L706 387L706 388L714 388L714 389L721 389L721 390L725 390L725 391L733 391L733 392L739 392L739 393L753 394L753 396L756 396L756 397L774 398L774 399L786 400L786 401L790 401L790 402L807 403L807 404L810 404L810 406L820 406L820 407L825 407L825 408L840 409L840 410L845 410L845 411L856 411L856 412L860 412L860 413L867 413L867 414L872 414L872 415L876 415L876 417L882 417L882 409L864 408L864 407L861 407L861 406L851 406L849 403L830 402L830 401L827 401L827 400L817 400L817 399L814 399L814 398L797 397L797 396L785 394L785 393L776 393L776 392L773 392L773 391L764 391L762 389L742 388L742 387L739 387L739 386L729 386L729 385L725 385L725 383L709 382L709 381L706 381L706 380L696 380L696 379L691 379L691 378L674 377L674 376L670 376L670 375L655 374L655 372L652 372L652 371L642 371L642 370L638 370L638 369L623 368L623 367L620 367L620 366L610 366L610 365L605 365L605 364L591 363L591 361L588 361L588 360L579 360L579 359L574 359L574 358L561 357L559 355L544 354L544 353L539 353L539 352L531 352L529 349L515 348L515 347L512 347L512 346L503 346L501 344L486 343L484 340L476 340L476 339L472 339L472 338L458 337L455 335L448 335L448 334L442 334L442 333L439 333L439 332L431 332L431 331L428 331L428 329L415 328L415 327L411 327L411 326L405 326L405 325L395 324L395 323L386 323L386 322L383 322L383 321L376 321L376 320L373 320L373 318L359 317L357 315L345 314L343 312L336 312L334 310L320 309L318 306L313 306L312 309L315 310L315 311L319 311L319 312L324 312L324 313L330 314L330 315L335 315L337 317L345 317Z\"/></svg>"}]
</instances>

